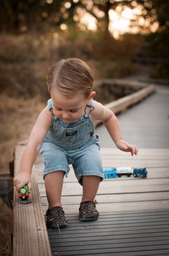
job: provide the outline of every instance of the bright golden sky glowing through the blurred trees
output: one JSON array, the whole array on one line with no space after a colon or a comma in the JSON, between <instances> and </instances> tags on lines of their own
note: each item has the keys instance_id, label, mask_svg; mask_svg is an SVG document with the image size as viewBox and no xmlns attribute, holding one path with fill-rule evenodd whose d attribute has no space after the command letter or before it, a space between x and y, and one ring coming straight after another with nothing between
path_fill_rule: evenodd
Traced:
<instances>
[{"instance_id":1,"label":"bright golden sky glowing through the blurred trees","mask_svg":"<svg viewBox=\"0 0 169 256\"><path fill-rule=\"evenodd\" d=\"M53 0L46 0L48 4L52 3ZM73 0L74 3L78 3L79 0ZM112 0L113 1L113 0ZM144 2L144 6L151 9L151 17L147 15L146 18L143 15L147 14L147 11L144 9L144 6L138 4L135 0L131 1L133 9L130 9L126 5L122 5L120 0L115 0L119 2L116 9L109 10L109 31L114 36L114 38L119 39L124 33L142 33L148 34L150 32L155 32L159 28L158 22L156 22L156 10L152 9L152 6L148 2ZM93 13L100 18L104 17L104 12L100 11L98 6L93 6L93 1L85 1L86 9L93 10ZM113 2L112 2L113 3ZM65 23L60 25L62 31L68 30L68 25L66 24L66 19L68 18L68 10L71 7L69 1L65 2L63 10L63 17ZM91 15L85 8L78 7L76 8L76 13L73 16L73 19L77 22L79 28L82 31L86 29L91 31L96 31L98 27L102 29L103 23L98 22L98 20ZM56 22L57 22L56 17ZM103 28L104 29L104 28ZM54 37L57 37L57 33L54 33Z\"/></svg>"}]
</instances>

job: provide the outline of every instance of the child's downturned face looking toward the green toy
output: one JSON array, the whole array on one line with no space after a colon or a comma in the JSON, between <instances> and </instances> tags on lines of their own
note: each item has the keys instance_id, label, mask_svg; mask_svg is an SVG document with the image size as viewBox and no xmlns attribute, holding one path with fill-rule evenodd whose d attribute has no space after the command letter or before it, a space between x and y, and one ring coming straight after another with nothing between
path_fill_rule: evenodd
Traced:
<instances>
[{"instance_id":1,"label":"child's downturned face looking toward the green toy","mask_svg":"<svg viewBox=\"0 0 169 256\"><path fill-rule=\"evenodd\" d=\"M85 99L83 94L69 98L56 89L51 90L51 99L54 115L68 124L78 120L83 115L86 104L91 100Z\"/></svg>"}]
</instances>

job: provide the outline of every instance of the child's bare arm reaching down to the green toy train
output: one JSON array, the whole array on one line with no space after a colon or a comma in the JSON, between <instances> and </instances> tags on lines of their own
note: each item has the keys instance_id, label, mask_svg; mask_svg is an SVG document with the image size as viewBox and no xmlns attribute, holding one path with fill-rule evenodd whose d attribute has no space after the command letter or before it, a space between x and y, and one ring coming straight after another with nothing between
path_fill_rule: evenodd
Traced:
<instances>
[{"instance_id":1,"label":"child's bare arm reaching down to the green toy train","mask_svg":"<svg viewBox=\"0 0 169 256\"><path fill-rule=\"evenodd\" d=\"M28 143L21 158L19 174L14 178L14 186L19 192L20 188L28 184L29 192L31 190L31 171L36 156L41 148L47 131L51 126L52 115L48 106L40 113L36 123L31 131Z\"/></svg>"}]
</instances>

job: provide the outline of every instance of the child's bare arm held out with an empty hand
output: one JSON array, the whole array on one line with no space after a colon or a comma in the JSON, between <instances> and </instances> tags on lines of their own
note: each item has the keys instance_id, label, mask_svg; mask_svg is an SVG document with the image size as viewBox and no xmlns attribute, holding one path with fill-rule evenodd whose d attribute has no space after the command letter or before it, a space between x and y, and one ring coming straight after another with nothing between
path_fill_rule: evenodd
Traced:
<instances>
[{"instance_id":1,"label":"child's bare arm held out with an empty hand","mask_svg":"<svg viewBox=\"0 0 169 256\"><path fill-rule=\"evenodd\" d=\"M136 155L138 152L137 146L123 140L120 125L114 113L96 101L94 101L94 108L91 117L94 120L101 120L103 122L117 148L125 152L131 152L131 155Z\"/></svg>"}]
</instances>

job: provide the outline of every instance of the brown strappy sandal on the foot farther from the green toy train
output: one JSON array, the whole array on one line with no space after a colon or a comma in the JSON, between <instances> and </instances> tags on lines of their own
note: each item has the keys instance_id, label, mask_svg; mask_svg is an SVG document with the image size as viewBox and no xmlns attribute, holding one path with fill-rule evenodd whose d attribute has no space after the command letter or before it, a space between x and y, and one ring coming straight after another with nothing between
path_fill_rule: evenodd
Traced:
<instances>
[{"instance_id":1,"label":"brown strappy sandal on the foot farther from the green toy train","mask_svg":"<svg viewBox=\"0 0 169 256\"><path fill-rule=\"evenodd\" d=\"M84 201L80 203L79 219L81 221L97 220L99 213L96 210L94 201Z\"/></svg>"}]
</instances>

